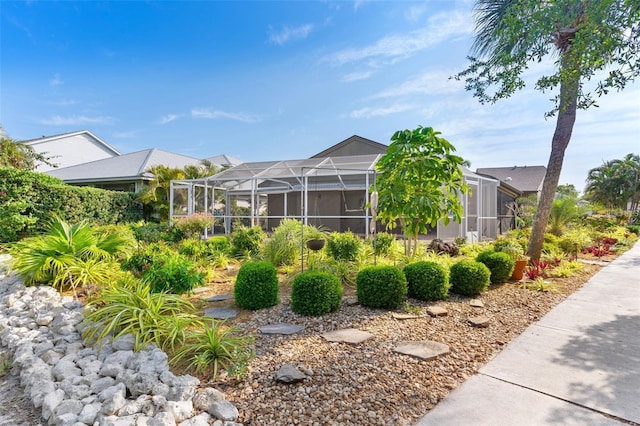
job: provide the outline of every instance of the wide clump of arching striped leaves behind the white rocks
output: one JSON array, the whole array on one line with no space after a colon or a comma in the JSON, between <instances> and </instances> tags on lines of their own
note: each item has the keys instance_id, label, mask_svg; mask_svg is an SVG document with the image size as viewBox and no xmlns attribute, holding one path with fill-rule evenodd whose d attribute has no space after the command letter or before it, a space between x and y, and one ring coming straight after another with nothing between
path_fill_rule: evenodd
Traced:
<instances>
[{"instance_id":1,"label":"wide clump of arching striped leaves behind the white rocks","mask_svg":"<svg viewBox=\"0 0 640 426\"><path fill-rule=\"evenodd\" d=\"M82 337L90 344L131 333L136 350L149 343L171 349L185 339L188 327L202 325L189 301L153 292L148 283L131 275L104 288L87 308Z\"/></svg>"}]
</instances>

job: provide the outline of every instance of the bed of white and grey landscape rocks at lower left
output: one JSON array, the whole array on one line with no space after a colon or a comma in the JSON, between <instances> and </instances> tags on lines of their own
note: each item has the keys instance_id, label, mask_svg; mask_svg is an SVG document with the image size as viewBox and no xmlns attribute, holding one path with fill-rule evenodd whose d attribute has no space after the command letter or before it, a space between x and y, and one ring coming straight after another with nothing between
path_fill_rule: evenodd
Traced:
<instances>
[{"instance_id":1,"label":"bed of white and grey landscape rocks at lower left","mask_svg":"<svg viewBox=\"0 0 640 426\"><path fill-rule=\"evenodd\" d=\"M41 408L44 423L239 425L222 392L174 375L157 347L135 352L132 335L85 346L82 303L49 286L25 287L3 272L7 256L0 256L0 348L12 355L22 392Z\"/></svg>"}]
</instances>

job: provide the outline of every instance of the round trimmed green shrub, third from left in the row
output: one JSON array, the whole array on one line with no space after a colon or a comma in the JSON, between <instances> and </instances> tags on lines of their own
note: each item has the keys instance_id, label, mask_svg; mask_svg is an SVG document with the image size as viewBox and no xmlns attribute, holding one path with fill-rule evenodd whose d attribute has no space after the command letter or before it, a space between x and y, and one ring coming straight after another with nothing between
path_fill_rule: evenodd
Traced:
<instances>
[{"instance_id":1,"label":"round trimmed green shrub, third from left in the row","mask_svg":"<svg viewBox=\"0 0 640 426\"><path fill-rule=\"evenodd\" d=\"M369 266L358 272L356 295L368 308L397 308L407 296L407 279L395 266Z\"/></svg>"}]
</instances>

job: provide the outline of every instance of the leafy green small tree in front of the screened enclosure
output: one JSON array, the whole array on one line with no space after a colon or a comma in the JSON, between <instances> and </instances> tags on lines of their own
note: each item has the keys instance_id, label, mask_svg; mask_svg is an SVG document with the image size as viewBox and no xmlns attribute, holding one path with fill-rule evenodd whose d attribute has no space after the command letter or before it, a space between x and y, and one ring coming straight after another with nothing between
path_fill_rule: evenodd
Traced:
<instances>
[{"instance_id":1,"label":"leafy green small tree in front of the screened enclosure","mask_svg":"<svg viewBox=\"0 0 640 426\"><path fill-rule=\"evenodd\" d=\"M387 229L400 222L405 252L413 253L418 235L450 216L461 220L460 194L466 193L455 147L431 127L397 131L387 153L376 164L378 218Z\"/></svg>"}]
</instances>

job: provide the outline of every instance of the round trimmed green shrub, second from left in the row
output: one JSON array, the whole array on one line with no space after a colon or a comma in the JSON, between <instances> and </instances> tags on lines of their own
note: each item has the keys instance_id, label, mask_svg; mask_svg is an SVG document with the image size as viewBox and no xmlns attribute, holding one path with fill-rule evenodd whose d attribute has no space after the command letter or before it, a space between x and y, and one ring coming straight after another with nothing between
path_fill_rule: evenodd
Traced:
<instances>
[{"instance_id":1,"label":"round trimmed green shrub, second from left in the row","mask_svg":"<svg viewBox=\"0 0 640 426\"><path fill-rule=\"evenodd\" d=\"M342 283L328 272L307 271L296 276L291 287L291 310L302 315L322 315L338 310Z\"/></svg>"}]
</instances>

